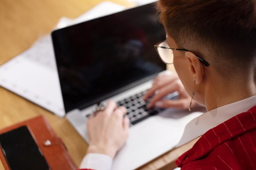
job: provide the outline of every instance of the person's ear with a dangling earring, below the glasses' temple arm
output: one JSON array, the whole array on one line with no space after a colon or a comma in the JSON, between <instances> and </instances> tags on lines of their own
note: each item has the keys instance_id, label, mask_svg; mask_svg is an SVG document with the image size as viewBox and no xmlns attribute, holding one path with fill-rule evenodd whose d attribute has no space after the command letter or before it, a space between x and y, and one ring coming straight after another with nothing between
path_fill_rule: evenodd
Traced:
<instances>
[{"instance_id":1,"label":"person's ear with a dangling earring, below the glasses' temple arm","mask_svg":"<svg viewBox=\"0 0 256 170\"><path fill-rule=\"evenodd\" d=\"M193 79L195 79L196 84L200 84L203 80L204 76L204 66L198 59L198 57L190 52L187 51L185 53L186 59L189 61L189 70L191 71L191 74L193 75Z\"/></svg>"}]
</instances>

